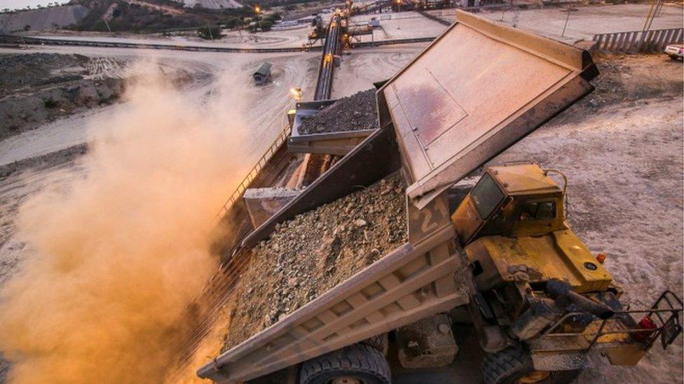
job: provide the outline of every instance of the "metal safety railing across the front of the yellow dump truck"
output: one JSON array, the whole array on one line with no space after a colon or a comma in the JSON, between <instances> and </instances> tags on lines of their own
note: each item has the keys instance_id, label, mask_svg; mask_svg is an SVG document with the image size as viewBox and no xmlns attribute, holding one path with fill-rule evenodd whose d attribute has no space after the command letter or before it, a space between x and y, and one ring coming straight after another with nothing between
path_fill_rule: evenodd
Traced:
<instances>
[{"instance_id":1,"label":"metal safety railing across the front of the yellow dump truck","mask_svg":"<svg viewBox=\"0 0 684 384\"><path fill-rule=\"evenodd\" d=\"M650 349L653 343L660 338L662 348L665 349L682 332L682 325L680 321L680 313L683 309L682 306L682 301L676 296L676 294L671 291L665 291L650 308L616 311L612 317L601 320L601 324L598 325L596 332L554 332L556 329L562 329L561 325L571 318L586 314L581 312L567 313L554 325L552 325L552 327L547 329L547 331L539 337L538 341L543 341L544 339L549 338L576 338L578 336L582 336L587 338L587 340L589 340L589 338L591 339L588 346L575 344L573 348L535 348L534 352L587 353L589 350L591 350L591 348L594 348L594 346L599 343L599 339L601 339L602 336L608 336L611 334L622 334L625 336L629 335L631 339L641 342L642 348L644 350ZM642 320L648 319L647 323L650 325L650 327L634 321L634 318L631 318L632 314L643 314L644 318ZM626 316L629 316L629 319L627 319ZM612 327L610 324L611 322L616 326ZM625 324L625 322L634 322L634 324Z\"/></svg>"}]
</instances>

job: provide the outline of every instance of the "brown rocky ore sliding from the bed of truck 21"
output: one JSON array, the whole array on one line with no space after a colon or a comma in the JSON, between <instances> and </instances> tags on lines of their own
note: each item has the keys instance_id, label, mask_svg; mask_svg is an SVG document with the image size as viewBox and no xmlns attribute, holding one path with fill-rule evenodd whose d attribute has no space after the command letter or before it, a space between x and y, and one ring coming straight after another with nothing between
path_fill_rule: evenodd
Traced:
<instances>
[{"instance_id":1,"label":"brown rocky ore sliding from the bed of truck 21","mask_svg":"<svg viewBox=\"0 0 684 384\"><path fill-rule=\"evenodd\" d=\"M223 351L406 243L405 209L392 176L278 225L233 291Z\"/></svg>"}]
</instances>

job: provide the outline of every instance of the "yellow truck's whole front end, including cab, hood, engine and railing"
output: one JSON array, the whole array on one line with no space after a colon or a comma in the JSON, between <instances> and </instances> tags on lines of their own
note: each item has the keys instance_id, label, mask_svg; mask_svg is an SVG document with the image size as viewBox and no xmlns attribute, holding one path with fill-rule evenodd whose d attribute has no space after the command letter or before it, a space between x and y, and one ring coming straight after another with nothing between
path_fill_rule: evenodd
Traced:
<instances>
[{"instance_id":1,"label":"yellow truck's whole front end, including cab, hood, engine and railing","mask_svg":"<svg viewBox=\"0 0 684 384\"><path fill-rule=\"evenodd\" d=\"M656 338L665 347L681 330L671 292L650 309L671 323L662 333L649 330L651 313L622 305L605 257L592 255L566 223L567 180L559 187L552 172L566 180L531 163L492 166L451 215L472 271L470 313L488 353L487 383L566 383L592 348L634 365Z\"/></svg>"}]
</instances>

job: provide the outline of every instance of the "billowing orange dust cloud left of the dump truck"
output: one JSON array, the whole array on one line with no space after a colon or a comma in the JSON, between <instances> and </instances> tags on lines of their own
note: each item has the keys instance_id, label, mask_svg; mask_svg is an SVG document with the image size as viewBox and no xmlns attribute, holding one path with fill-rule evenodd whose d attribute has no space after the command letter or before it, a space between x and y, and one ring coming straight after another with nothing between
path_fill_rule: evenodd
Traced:
<instances>
[{"instance_id":1,"label":"billowing orange dust cloud left of the dump truck","mask_svg":"<svg viewBox=\"0 0 684 384\"><path fill-rule=\"evenodd\" d=\"M239 100L200 103L157 68L137 65L128 103L93 127L86 175L22 207L32 253L0 292L11 383L160 382L217 266L214 215L250 165Z\"/></svg>"}]
</instances>

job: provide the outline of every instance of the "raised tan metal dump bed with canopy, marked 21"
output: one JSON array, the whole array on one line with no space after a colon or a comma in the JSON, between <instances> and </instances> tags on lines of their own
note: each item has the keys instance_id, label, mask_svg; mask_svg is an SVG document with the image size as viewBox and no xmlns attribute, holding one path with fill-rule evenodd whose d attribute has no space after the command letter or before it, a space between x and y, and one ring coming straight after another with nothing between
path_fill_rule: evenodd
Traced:
<instances>
[{"instance_id":1,"label":"raised tan metal dump bed with canopy, marked 21","mask_svg":"<svg viewBox=\"0 0 684 384\"><path fill-rule=\"evenodd\" d=\"M512 64L514 63L514 64ZM446 190L593 89L587 52L457 13L378 90L374 131L245 241L401 171L408 241L200 367L247 381L466 304L472 276Z\"/></svg>"}]
</instances>

